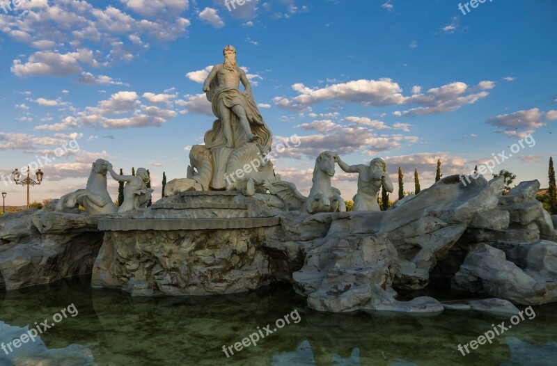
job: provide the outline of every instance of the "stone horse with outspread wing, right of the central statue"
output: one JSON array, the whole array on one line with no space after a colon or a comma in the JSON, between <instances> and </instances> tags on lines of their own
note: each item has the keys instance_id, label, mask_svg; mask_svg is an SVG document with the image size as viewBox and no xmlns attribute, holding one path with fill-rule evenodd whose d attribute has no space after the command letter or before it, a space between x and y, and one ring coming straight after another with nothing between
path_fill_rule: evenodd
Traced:
<instances>
[{"instance_id":1,"label":"stone horse with outspread wing, right of the central statue","mask_svg":"<svg viewBox=\"0 0 557 366\"><path fill-rule=\"evenodd\" d=\"M279 180L265 184L267 189L280 197L291 209L299 209L306 214L317 212L345 212L346 205L340 191L331 186L331 177L335 175L335 153L322 152L315 159L313 168L313 186L309 197L302 196L293 183Z\"/></svg>"}]
</instances>

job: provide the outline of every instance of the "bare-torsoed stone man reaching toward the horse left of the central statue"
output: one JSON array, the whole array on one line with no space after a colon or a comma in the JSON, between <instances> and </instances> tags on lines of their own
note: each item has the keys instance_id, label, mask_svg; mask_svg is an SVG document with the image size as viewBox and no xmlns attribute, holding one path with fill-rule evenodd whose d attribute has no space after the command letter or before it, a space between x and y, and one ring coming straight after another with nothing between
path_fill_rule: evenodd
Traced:
<instances>
[{"instance_id":1,"label":"bare-torsoed stone man reaching toward the horse left of the central statue","mask_svg":"<svg viewBox=\"0 0 557 366\"><path fill-rule=\"evenodd\" d=\"M146 207L151 199L153 189L147 188L150 177L145 168L138 168L134 175L118 175L113 170L112 164L108 165L108 171L113 180L125 182L124 202L120 202L118 213Z\"/></svg>"}]
</instances>

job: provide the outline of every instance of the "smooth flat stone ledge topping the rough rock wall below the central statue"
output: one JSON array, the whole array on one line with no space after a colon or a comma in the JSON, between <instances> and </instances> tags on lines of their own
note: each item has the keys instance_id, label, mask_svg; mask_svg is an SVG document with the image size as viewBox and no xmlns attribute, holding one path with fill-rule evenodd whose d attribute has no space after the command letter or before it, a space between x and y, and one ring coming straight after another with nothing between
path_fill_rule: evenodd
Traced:
<instances>
[{"instance_id":1,"label":"smooth flat stone ledge topping the rough rock wall below the central statue","mask_svg":"<svg viewBox=\"0 0 557 366\"><path fill-rule=\"evenodd\" d=\"M219 229L251 229L278 225L280 217L264 218L124 218L101 219L99 230L132 231L132 230L219 230Z\"/></svg>"}]
</instances>

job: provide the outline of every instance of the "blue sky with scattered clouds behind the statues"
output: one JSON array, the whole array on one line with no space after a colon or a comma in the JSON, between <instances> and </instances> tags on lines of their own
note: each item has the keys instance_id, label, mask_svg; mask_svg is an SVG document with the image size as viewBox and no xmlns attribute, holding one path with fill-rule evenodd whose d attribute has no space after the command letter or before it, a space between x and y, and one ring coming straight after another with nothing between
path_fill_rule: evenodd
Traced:
<instances>
[{"instance_id":1,"label":"blue sky with scattered clouds behind the statues","mask_svg":"<svg viewBox=\"0 0 557 366\"><path fill-rule=\"evenodd\" d=\"M399 166L404 190L414 191L414 169L427 188L438 159L445 176L485 164L546 187L557 158L557 2L475 5L0 0L6 205L26 202L10 182L14 168L42 168L31 188L41 201L84 188L98 158L125 174L149 169L159 199L162 173L186 177L191 146L212 127L203 80L226 45L237 49L274 143L291 142L272 161L301 193L325 150L348 164L382 157L391 198ZM345 200L356 180L337 167ZM114 199L117 187L109 180Z\"/></svg>"}]
</instances>

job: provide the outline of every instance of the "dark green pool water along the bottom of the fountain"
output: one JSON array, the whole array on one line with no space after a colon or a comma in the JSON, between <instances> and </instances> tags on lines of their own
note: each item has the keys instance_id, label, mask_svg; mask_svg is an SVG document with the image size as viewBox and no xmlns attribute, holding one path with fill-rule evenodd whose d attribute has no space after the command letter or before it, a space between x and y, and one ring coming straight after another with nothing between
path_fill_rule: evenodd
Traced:
<instances>
[{"instance_id":1,"label":"dark green pool water along the bottom of the fountain","mask_svg":"<svg viewBox=\"0 0 557 366\"><path fill-rule=\"evenodd\" d=\"M0 365L556 365L557 305L534 307L521 321L462 356L470 342L506 317L446 311L437 317L383 313L330 314L306 307L289 287L203 298L138 298L91 289L88 278L0 292L0 342L52 319L68 305L79 311L22 344ZM297 311L290 321L226 357L223 345ZM296 313L294 313L296 314ZM296 319L296 316L294 315ZM292 318L290 318L292 319ZM263 332L265 334L265 332ZM42 361L42 363L41 363Z\"/></svg>"}]
</instances>

